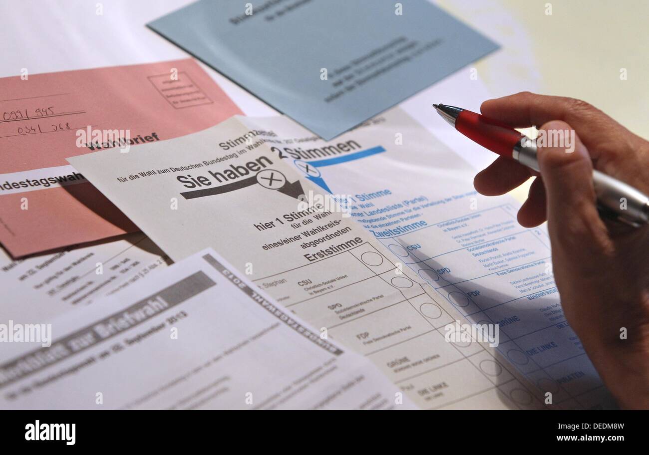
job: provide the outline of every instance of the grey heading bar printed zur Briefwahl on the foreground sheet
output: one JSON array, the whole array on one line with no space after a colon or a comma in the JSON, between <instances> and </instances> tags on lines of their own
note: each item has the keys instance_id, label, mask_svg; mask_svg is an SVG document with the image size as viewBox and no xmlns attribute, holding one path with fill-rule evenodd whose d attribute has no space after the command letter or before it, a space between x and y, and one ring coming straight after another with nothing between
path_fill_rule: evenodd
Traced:
<instances>
[{"instance_id":1,"label":"grey heading bar printed zur Briefwahl on the foreground sheet","mask_svg":"<svg viewBox=\"0 0 649 455\"><path fill-rule=\"evenodd\" d=\"M53 342L50 347L35 349L6 362L0 365L0 388L145 323L215 285L208 275L196 272L126 309ZM94 361L90 360L91 363Z\"/></svg>"}]
</instances>

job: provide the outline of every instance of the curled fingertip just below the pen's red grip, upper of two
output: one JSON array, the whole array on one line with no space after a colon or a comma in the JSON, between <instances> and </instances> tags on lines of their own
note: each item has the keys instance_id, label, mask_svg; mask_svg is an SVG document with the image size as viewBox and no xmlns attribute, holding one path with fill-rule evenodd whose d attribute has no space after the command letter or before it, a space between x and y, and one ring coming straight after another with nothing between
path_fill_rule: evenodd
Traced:
<instances>
[{"instance_id":1,"label":"curled fingertip just below the pen's red grip, upper of two","mask_svg":"<svg viewBox=\"0 0 649 455\"><path fill-rule=\"evenodd\" d=\"M499 156L486 169L478 172L473 185L480 194L485 196L500 196L528 180L532 170L514 161Z\"/></svg>"}]
</instances>

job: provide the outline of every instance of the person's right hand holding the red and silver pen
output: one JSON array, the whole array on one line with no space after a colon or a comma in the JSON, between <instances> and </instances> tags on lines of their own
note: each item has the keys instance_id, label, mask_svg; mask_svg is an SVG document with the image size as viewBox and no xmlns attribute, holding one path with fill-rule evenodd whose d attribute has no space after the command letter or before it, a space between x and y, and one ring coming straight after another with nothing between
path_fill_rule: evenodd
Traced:
<instances>
[{"instance_id":1,"label":"person's right hand holding the red and silver pen","mask_svg":"<svg viewBox=\"0 0 649 455\"><path fill-rule=\"evenodd\" d=\"M524 227L548 222L566 319L618 404L649 409L649 225L603 221L592 181L594 168L649 194L649 142L577 99L523 92L487 100L480 110L514 128L542 125L539 134L574 130L572 152L539 146L543 178L498 157L474 186L496 196L535 177L518 220Z\"/></svg>"}]
</instances>

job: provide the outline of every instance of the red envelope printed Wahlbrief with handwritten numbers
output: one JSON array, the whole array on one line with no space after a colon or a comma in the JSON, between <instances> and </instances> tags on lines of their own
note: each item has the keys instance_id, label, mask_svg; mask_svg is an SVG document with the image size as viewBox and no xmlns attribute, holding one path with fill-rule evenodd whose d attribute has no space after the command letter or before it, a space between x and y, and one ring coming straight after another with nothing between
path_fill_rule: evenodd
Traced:
<instances>
[{"instance_id":1,"label":"red envelope printed Wahlbrief with handwritten numbers","mask_svg":"<svg viewBox=\"0 0 649 455\"><path fill-rule=\"evenodd\" d=\"M239 109L191 59L0 79L0 242L13 257L138 231L66 157L127 153Z\"/></svg>"}]
</instances>

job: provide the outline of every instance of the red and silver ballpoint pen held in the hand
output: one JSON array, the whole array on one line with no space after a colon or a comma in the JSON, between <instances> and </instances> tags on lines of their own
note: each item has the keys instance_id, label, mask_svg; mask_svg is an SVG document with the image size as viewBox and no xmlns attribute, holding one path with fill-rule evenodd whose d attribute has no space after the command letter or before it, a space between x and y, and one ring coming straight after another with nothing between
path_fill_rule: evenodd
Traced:
<instances>
[{"instance_id":1,"label":"red and silver ballpoint pen held in the hand","mask_svg":"<svg viewBox=\"0 0 649 455\"><path fill-rule=\"evenodd\" d=\"M536 141L511 126L478 113L446 104L433 104L437 113L461 134L500 156L539 171ZM600 215L631 226L649 222L649 197L631 185L593 169L593 186Z\"/></svg>"}]
</instances>

